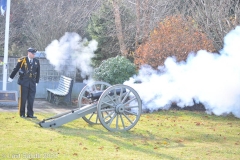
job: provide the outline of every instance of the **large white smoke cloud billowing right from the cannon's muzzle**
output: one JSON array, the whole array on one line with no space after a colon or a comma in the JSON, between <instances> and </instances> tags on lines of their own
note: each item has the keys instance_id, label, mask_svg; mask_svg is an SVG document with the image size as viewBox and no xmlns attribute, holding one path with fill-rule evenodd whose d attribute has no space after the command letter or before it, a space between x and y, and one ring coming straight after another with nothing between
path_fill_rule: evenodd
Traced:
<instances>
[{"instance_id":1,"label":"large white smoke cloud billowing right from the cannon's muzzle","mask_svg":"<svg viewBox=\"0 0 240 160\"><path fill-rule=\"evenodd\" d=\"M135 84L140 80L141 84ZM153 70L142 66L139 74L124 84L132 86L143 101L143 109L168 109L204 104L208 113L232 113L240 118L240 26L224 38L220 54L200 50L186 62L169 57L165 66Z\"/></svg>"}]
</instances>

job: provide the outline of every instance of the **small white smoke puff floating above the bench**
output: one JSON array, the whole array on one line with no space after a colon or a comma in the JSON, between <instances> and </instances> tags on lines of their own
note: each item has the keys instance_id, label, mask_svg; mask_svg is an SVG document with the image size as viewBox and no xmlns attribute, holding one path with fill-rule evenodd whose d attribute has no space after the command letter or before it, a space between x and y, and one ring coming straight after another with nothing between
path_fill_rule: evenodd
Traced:
<instances>
[{"instance_id":1,"label":"small white smoke puff floating above the bench","mask_svg":"<svg viewBox=\"0 0 240 160\"><path fill-rule=\"evenodd\" d=\"M46 58L57 71L73 71L78 68L81 76L91 75L90 66L94 51L97 50L97 41L82 39L77 33L65 33L60 40L53 40L45 48Z\"/></svg>"}]
</instances>

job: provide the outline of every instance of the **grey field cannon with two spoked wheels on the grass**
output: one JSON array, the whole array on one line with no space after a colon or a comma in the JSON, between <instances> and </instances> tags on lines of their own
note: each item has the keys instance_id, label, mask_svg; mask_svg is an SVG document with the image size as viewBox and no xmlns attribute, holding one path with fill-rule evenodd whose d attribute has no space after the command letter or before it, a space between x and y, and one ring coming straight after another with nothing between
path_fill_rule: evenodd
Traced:
<instances>
[{"instance_id":1,"label":"grey field cannon with two spoked wheels on the grass","mask_svg":"<svg viewBox=\"0 0 240 160\"><path fill-rule=\"evenodd\" d=\"M102 124L109 131L127 131L137 124L141 113L142 102L133 88L96 81L81 90L78 108L44 119L39 125L55 128L83 118L89 124Z\"/></svg>"}]
</instances>

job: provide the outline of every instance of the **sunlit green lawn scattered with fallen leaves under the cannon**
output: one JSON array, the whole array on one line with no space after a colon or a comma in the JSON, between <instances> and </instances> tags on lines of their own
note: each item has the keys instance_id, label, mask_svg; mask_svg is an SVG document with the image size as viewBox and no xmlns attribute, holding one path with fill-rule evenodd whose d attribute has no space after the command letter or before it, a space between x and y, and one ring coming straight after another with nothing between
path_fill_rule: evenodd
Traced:
<instances>
[{"instance_id":1,"label":"sunlit green lawn scattered with fallen leaves under the cannon","mask_svg":"<svg viewBox=\"0 0 240 160\"><path fill-rule=\"evenodd\" d=\"M51 115L36 113L39 120ZM81 118L55 129L41 128L39 120L1 113L1 160L240 159L240 119L233 116L161 111L143 114L127 132L109 132Z\"/></svg>"}]
</instances>

